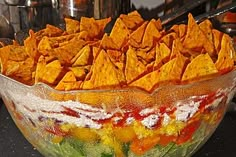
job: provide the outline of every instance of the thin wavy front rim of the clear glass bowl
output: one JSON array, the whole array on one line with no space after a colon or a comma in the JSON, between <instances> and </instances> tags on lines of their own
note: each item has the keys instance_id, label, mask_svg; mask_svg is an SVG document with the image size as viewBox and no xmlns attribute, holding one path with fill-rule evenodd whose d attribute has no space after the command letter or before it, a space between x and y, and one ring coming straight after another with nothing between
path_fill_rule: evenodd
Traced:
<instances>
[{"instance_id":1,"label":"thin wavy front rim of the clear glass bowl","mask_svg":"<svg viewBox=\"0 0 236 157\"><path fill-rule=\"evenodd\" d=\"M206 83L206 82L211 82L211 81L216 81L219 79L223 79L227 76L230 75L235 75L236 76L236 69L234 68L233 70L231 70L228 73L225 74L220 74L208 79L204 79L204 80L199 80L199 81L193 81L193 82L189 82L189 83L180 83L180 84L167 84L167 85L160 85L157 86L152 92L148 92L145 91L143 89L140 89L138 87L125 87L125 88L114 88L114 89L76 89L76 90L69 90L69 91L60 91L60 90L56 90L53 87L51 87L50 85L43 83L43 82L38 82L35 83L33 85L27 85L24 84L20 81L17 81L11 77L8 77L2 73L0 73L0 79L4 78L8 81L14 82L20 86L22 86L23 88L28 88L28 89L34 89L34 88L38 88L38 87L42 87L45 88L51 92L57 93L57 94L78 94L78 93L106 93L106 92L110 92L110 93L118 93L118 92L127 92L127 91L132 91L132 92L141 92L143 94L147 94L147 95L155 95L155 93L157 93L159 90L164 89L164 88L190 88L191 86L197 86L200 85L202 83ZM236 77L235 79L233 79L232 81L236 82Z\"/></svg>"}]
</instances>

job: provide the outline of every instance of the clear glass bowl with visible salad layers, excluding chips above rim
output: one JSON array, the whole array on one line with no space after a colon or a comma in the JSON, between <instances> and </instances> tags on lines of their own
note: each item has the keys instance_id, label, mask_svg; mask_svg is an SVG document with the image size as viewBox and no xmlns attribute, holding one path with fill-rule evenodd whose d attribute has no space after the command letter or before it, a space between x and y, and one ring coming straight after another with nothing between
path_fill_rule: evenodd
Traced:
<instances>
[{"instance_id":1,"label":"clear glass bowl with visible salad layers, excluding chips above rim","mask_svg":"<svg viewBox=\"0 0 236 157\"><path fill-rule=\"evenodd\" d=\"M191 156L212 135L236 91L236 71L187 85L56 91L0 75L0 94L44 156Z\"/></svg>"}]
</instances>

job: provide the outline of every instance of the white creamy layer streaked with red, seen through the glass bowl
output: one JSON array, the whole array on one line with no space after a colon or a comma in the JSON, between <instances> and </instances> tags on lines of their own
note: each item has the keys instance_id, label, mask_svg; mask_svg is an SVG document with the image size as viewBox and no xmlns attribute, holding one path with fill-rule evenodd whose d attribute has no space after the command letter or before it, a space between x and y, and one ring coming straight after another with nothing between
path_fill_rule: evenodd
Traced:
<instances>
[{"instance_id":1,"label":"white creamy layer streaked with red, seen through the glass bowl","mask_svg":"<svg viewBox=\"0 0 236 157\"><path fill-rule=\"evenodd\" d=\"M56 119L60 122L74 124L79 127L86 126L99 129L102 127L102 124L98 122L99 120L112 119L114 122L118 122L124 118L116 117L116 111L108 113L103 108L92 107L80 102L46 100L31 93L16 94L14 91L9 94L12 96L11 99L16 105L17 110L34 122L39 121L39 117L43 117L46 119ZM174 112L176 120L187 121L191 118L198 111L200 103L205 97L191 97L187 100L176 102L174 105L176 106L176 111ZM222 97L219 97L212 104L215 106L221 100ZM66 111L66 108L73 110L78 116L63 113L63 111ZM120 110L117 112L121 112ZM122 110L122 112L125 113L126 111ZM163 118L162 125L168 125L171 120L167 113L161 114L153 108L143 109L139 112L139 115L143 117L141 123L150 129L158 123L160 118ZM126 117L125 121L129 125L135 121L135 118Z\"/></svg>"}]
</instances>

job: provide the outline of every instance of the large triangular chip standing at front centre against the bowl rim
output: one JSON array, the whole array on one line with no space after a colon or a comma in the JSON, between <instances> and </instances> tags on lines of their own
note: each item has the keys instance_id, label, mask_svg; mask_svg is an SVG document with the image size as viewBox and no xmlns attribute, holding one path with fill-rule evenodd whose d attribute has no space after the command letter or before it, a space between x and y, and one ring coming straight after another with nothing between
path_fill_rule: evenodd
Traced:
<instances>
[{"instance_id":1,"label":"large triangular chip standing at front centre against the bowl rim","mask_svg":"<svg viewBox=\"0 0 236 157\"><path fill-rule=\"evenodd\" d=\"M125 83L123 72L114 66L104 50L98 54L91 72L90 80L83 82L82 89L120 88Z\"/></svg>"}]
</instances>

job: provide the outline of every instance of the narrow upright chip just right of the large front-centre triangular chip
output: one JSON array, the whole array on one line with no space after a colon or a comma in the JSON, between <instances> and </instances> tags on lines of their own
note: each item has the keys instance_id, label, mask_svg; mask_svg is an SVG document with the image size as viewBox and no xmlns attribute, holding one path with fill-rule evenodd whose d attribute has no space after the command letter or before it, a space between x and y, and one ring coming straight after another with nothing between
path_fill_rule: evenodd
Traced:
<instances>
[{"instance_id":1,"label":"narrow upright chip just right of the large front-centre triangular chip","mask_svg":"<svg viewBox=\"0 0 236 157\"><path fill-rule=\"evenodd\" d=\"M125 66L125 77L129 84L134 79L139 77L146 71L146 66L138 60L136 51L133 48L129 48L126 53L126 66Z\"/></svg>"}]
</instances>

